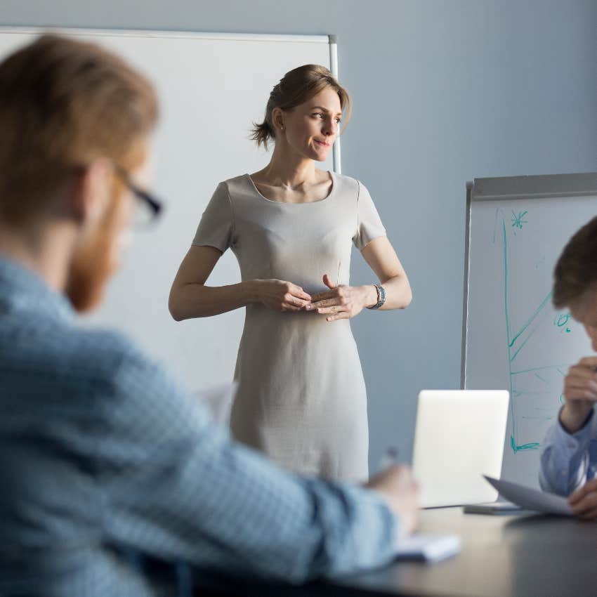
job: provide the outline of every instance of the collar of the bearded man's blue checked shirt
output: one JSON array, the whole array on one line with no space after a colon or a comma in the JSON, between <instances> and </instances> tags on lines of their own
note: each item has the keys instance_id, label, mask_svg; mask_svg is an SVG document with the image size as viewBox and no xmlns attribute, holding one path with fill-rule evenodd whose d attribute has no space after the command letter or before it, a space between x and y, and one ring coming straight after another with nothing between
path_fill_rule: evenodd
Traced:
<instances>
[{"instance_id":1,"label":"collar of the bearded man's blue checked shirt","mask_svg":"<svg viewBox=\"0 0 597 597\"><path fill-rule=\"evenodd\" d=\"M38 273L1 254L0 302L58 319L74 318L74 309L66 296L51 289Z\"/></svg>"}]
</instances>

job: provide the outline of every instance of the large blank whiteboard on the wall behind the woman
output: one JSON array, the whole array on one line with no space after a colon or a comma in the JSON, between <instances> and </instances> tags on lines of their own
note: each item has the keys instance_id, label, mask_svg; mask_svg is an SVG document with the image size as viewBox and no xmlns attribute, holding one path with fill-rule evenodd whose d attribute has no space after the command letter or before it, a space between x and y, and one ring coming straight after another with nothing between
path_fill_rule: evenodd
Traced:
<instances>
[{"instance_id":1,"label":"large blank whiteboard on the wall behind the woman","mask_svg":"<svg viewBox=\"0 0 597 597\"><path fill-rule=\"evenodd\" d=\"M0 58L39 32L0 28ZM231 380L244 309L177 323L168 311L171 283L216 185L268 162L248 136L251 123L263 120L273 86L303 64L334 72L336 46L327 36L59 32L123 55L153 81L162 109L153 190L166 203L164 217L155 229L134 235L104 305L89 322L128 334L191 390ZM320 167L339 172L339 141L334 155ZM237 261L227 251L208 284L236 282Z\"/></svg>"}]
</instances>

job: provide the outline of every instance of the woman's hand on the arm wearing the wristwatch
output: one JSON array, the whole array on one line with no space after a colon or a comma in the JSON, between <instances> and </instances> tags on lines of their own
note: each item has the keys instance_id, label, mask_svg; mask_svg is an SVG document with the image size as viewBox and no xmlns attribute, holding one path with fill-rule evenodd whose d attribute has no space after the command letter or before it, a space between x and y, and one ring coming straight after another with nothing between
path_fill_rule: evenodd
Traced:
<instances>
[{"instance_id":1,"label":"woman's hand on the arm wearing the wristwatch","mask_svg":"<svg viewBox=\"0 0 597 597\"><path fill-rule=\"evenodd\" d=\"M345 286L333 284L325 274L323 283L329 288L311 296L311 305L317 313L327 314L327 321L346 320L358 315L365 307L375 305L377 292L373 284L368 286Z\"/></svg>"}]
</instances>

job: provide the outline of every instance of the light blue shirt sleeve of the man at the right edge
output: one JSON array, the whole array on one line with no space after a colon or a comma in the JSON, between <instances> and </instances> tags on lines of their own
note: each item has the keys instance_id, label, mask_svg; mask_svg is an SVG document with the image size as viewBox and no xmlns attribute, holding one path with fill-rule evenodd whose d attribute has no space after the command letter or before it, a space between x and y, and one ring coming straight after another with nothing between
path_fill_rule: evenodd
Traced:
<instances>
[{"instance_id":1,"label":"light blue shirt sleeve of the man at the right edge","mask_svg":"<svg viewBox=\"0 0 597 597\"><path fill-rule=\"evenodd\" d=\"M547 431L541 454L539 485L542 490L568 496L586 483L591 463L591 440L596 438L596 417L589 419L577 433L570 434L557 421Z\"/></svg>"}]
</instances>

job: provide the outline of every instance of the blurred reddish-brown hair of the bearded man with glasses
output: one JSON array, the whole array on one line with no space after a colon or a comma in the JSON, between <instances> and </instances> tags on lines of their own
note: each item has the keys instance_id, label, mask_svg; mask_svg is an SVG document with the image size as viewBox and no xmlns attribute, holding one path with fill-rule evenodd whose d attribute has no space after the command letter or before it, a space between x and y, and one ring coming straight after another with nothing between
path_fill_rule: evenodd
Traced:
<instances>
[{"instance_id":1,"label":"blurred reddish-brown hair of the bearded man with glasses","mask_svg":"<svg viewBox=\"0 0 597 597\"><path fill-rule=\"evenodd\" d=\"M75 167L143 159L158 118L150 81L95 44L46 34L0 63L0 217L25 221Z\"/></svg>"}]
</instances>

